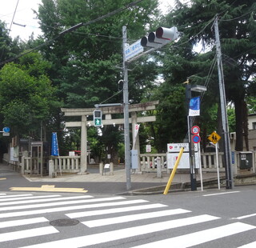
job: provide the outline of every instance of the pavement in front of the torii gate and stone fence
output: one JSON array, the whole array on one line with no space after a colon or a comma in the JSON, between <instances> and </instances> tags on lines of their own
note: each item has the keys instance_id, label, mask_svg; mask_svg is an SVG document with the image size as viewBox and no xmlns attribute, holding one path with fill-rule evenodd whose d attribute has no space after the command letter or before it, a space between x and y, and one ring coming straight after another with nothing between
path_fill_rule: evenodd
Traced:
<instances>
[{"instance_id":1,"label":"pavement in front of the torii gate and stone fence","mask_svg":"<svg viewBox=\"0 0 256 248\"><path fill-rule=\"evenodd\" d=\"M221 174L222 176L222 174ZM0 179L10 182L4 183L2 188L9 189L10 187L42 187L54 185L55 187L62 188L85 188L91 193L95 194L158 194L163 192L166 184L170 178L170 174L162 173L162 177L158 178L156 172L147 173L131 173L131 186L132 189L126 191L126 170L124 166L114 167L114 175L110 175L107 170L103 175L99 174L98 167L88 168L88 173L84 174L57 174L56 178L49 176L35 176L26 174L21 176L18 172L12 170L11 166L0 164ZM214 180L217 181L217 173L202 174L204 182ZM4 182L2 181L2 182ZM200 178L197 174L198 189L200 188ZM175 174L174 180L170 186L170 190L184 190L185 186L190 184L190 174Z\"/></svg>"}]
</instances>

